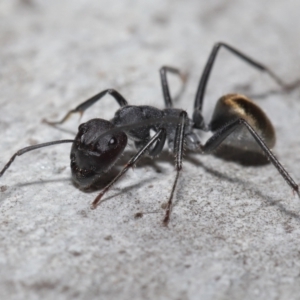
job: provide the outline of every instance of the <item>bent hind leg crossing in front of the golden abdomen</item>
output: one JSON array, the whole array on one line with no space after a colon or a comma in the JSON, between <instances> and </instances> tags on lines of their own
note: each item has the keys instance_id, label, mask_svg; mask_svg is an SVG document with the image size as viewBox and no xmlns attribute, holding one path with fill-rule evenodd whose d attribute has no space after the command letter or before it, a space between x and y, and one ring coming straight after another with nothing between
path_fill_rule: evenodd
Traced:
<instances>
[{"instance_id":1,"label":"bent hind leg crossing in front of the golden abdomen","mask_svg":"<svg viewBox=\"0 0 300 300\"><path fill-rule=\"evenodd\" d=\"M249 123L242 118L237 119L231 123L228 123L223 127L221 127L218 131L216 131L214 135L206 142L206 144L201 146L201 150L203 151L203 153L210 153L213 150L215 150L228 135L230 135L235 129L237 129L240 126L245 126L248 129L250 134L256 140L257 144L260 146L260 148L268 157L268 159L272 162L274 167L278 170L278 172L286 181L286 183L300 197L299 186L295 183L294 179L290 176L290 174L278 161L276 156L272 153L272 151L268 148L268 146L265 144L262 138L256 133L256 131L251 127L251 125L249 125Z\"/></svg>"}]
</instances>

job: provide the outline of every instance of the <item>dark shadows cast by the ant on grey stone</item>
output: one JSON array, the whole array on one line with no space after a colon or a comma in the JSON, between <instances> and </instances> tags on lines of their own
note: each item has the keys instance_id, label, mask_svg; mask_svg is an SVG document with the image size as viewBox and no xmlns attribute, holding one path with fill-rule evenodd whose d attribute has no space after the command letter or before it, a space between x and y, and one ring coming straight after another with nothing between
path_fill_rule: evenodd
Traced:
<instances>
[{"instance_id":1,"label":"dark shadows cast by the ant on grey stone","mask_svg":"<svg viewBox=\"0 0 300 300\"><path fill-rule=\"evenodd\" d=\"M233 153L231 153L228 148L229 146L222 146L220 147L220 149L218 149L218 151L216 153L214 153L214 155L218 158L222 158L224 160L227 161L232 161L232 162L236 162L239 163L245 167L247 166L263 166L268 164L268 160L264 157L263 154L260 153L255 153L257 155L258 158L260 158L261 161L259 160L254 160L252 158L251 155L245 155L245 152L243 152L244 155L242 155L242 152L239 153L238 156L235 156ZM230 155L228 154L230 153ZM106 173L105 175L101 176L99 178L99 181L94 184L90 189L88 190L82 190L84 193L90 194L90 193L94 193L96 191L99 191L101 189L103 189L121 170L122 166L124 164L126 164L129 159L135 154L135 151L133 150L129 150L126 151L124 153L124 155L119 159L118 161L118 165L112 167L108 173ZM197 153L193 153L190 152L188 153L185 157L184 157L184 161L187 161L189 163L192 163L193 165L196 165L197 167L201 167L203 168L207 173L213 175L214 177L217 177L218 179L221 180L225 180L227 182L232 182L232 183L238 183L239 185L243 186L246 189L249 189L249 184L247 181L242 180L239 177L230 177L228 175L224 175L223 173L212 169L210 167L207 167L203 162L201 162L199 160L199 155L196 157ZM253 154L253 153L252 153ZM155 160L153 160L150 157L143 157L143 159L141 159L141 161L138 162L136 168L140 169L140 168L145 168L145 167L149 167L151 169L154 169L154 171L157 174L164 174L165 170L164 167L162 167L160 164L161 163L167 163L170 165L174 165L174 156L170 153L168 153L167 151L164 151L161 153L161 155L159 157L157 157ZM130 186L127 186L125 188L122 188L122 190L120 190L119 188L115 188L115 190L117 190L117 192L113 193L112 195L105 197L104 200L101 201L102 202L106 202L109 201L123 193L127 193L130 192L133 189L137 189L140 188L142 186L144 186L145 184L149 184L149 181L155 181L157 180L157 176L151 176L150 179L144 179L144 180L139 180L139 182L135 183L135 184L130 184ZM65 183L72 183L74 185L74 187L78 188L72 181L71 176L70 177L65 177L65 178L60 178L60 179L50 179L50 180L39 180L39 181L32 181L32 182L26 182L26 183L18 183L13 185L11 188L6 188L4 191L2 191L0 193L1 195L1 200L0 200L0 204L4 202L4 200L6 198L11 197L16 189L19 188L26 188L29 186L33 186L33 185L45 185L45 184L55 184L58 182L65 182ZM255 188L251 188L252 192L261 199L264 199L265 202L269 205L269 206L277 206L277 208L283 212L284 214L297 219L298 221L300 221L300 215L295 213L292 210L287 209L283 204L280 203L280 200L276 200L270 196L268 196L267 194L263 193L262 191L255 189ZM166 201L167 201L167 197L168 195L166 195ZM180 197L181 198L181 197ZM92 199L91 199L92 200ZM180 201L180 199L177 199L176 201L174 201L173 207ZM144 212L143 214L147 214L147 212Z\"/></svg>"}]
</instances>

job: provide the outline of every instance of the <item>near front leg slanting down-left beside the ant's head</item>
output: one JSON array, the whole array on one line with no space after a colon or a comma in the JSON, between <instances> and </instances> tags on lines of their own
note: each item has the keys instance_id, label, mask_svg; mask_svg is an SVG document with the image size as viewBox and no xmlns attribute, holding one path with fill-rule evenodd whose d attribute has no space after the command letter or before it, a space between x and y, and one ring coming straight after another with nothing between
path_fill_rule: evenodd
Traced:
<instances>
[{"instance_id":1,"label":"near front leg slanting down-left beside the ant's head","mask_svg":"<svg viewBox=\"0 0 300 300\"><path fill-rule=\"evenodd\" d=\"M161 138L161 136L165 134L165 131L165 129L160 129L159 131L157 131L157 133L150 139L150 141L129 160L129 162L124 166L121 172L95 198L91 205L91 209L95 209L97 207L103 195L112 187L112 185L116 181L120 179L120 177L122 177L128 171L129 168L132 168L137 163L141 156L145 152L147 152L147 150L149 150L150 147Z\"/></svg>"}]
</instances>

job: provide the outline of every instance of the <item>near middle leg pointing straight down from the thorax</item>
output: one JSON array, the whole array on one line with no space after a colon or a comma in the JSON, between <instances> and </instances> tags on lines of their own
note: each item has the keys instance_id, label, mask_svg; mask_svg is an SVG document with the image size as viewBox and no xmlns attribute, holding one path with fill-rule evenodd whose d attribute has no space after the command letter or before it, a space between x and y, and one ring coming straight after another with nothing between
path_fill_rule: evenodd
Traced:
<instances>
[{"instance_id":1,"label":"near middle leg pointing straight down from the thorax","mask_svg":"<svg viewBox=\"0 0 300 300\"><path fill-rule=\"evenodd\" d=\"M174 195L177 181L179 178L179 173L182 170L182 156L183 156L183 150L184 150L184 129L185 129L185 120L187 118L187 113L185 111L182 111L180 113L180 118L181 118L181 122L177 125L177 128L176 128L175 145L174 145L174 152L176 155L176 160L175 160L176 177L175 177L173 187L171 190L171 194L169 197L169 201L167 204L165 218L163 220L163 224L165 226L168 226L168 223L170 220L173 195Z\"/></svg>"}]
</instances>

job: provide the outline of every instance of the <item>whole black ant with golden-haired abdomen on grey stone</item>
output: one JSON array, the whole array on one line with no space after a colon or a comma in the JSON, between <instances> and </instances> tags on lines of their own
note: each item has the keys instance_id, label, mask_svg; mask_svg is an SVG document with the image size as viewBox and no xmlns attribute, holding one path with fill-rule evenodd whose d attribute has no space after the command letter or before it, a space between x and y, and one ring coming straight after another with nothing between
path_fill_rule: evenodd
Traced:
<instances>
[{"instance_id":1,"label":"whole black ant with golden-haired abdomen on grey stone","mask_svg":"<svg viewBox=\"0 0 300 300\"><path fill-rule=\"evenodd\" d=\"M16 156L42 147L72 143L70 158L73 181L81 189L88 189L99 183L101 176L105 175L115 164L124 151L127 140L133 140L137 148L137 153L128 161L120 173L98 194L91 205L91 208L95 209L103 195L129 168L134 167L144 154L152 158L159 155L167 140L169 150L175 154L176 158L175 180L163 220L164 225L167 225L170 219L173 195L180 171L182 170L184 148L186 147L188 150L197 151L202 154L209 154L225 142L226 139L226 142L243 151L251 150L253 152L264 153L286 183L300 197L299 186L270 150L275 145L274 127L267 115L252 100L240 94L225 95L218 100L210 123L205 123L202 116L203 98L213 64L221 47L227 49L252 67L269 74L283 90L292 90L300 83L298 81L290 85L285 84L269 68L239 50L225 43L216 43L200 78L192 118L189 118L184 110L173 108L169 91L167 73L178 75L183 81L185 80L184 76L178 69L164 66L160 69L165 102L163 110L147 105L129 105L125 98L116 90L104 90L84 101L75 109L70 110L61 121L44 121L53 126L62 124L74 113L82 115L87 108L95 104L106 94L111 95L120 105L112 120L107 121L97 118L81 124L74 140L58 140L20 149L4 166L0 172L0 177L10 167ZM213 135L205 144L202 144L195 129L205 132L210 131ZM155 132L153 136L150 134L151 130Z\"/></svg>"}]
</instances>

